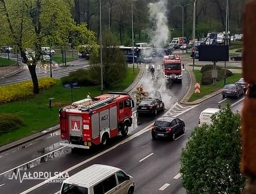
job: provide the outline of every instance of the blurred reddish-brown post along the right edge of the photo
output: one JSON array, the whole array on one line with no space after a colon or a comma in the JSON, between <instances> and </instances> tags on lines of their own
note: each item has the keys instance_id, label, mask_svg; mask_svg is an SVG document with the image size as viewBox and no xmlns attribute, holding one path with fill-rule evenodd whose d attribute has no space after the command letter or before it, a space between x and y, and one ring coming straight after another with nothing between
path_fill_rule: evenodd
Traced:
<instances>
[{"instance_id":1,"label":"blurred reddish-brown post along the right edge of the photo","mask_svg":"<svg viewBox=\"0 0 256 194\"><path fill-rule=\"evenodd\" d=\"M247 181L242 194L256 194L256 0L245 4L243 13L243 78L250 83L242 110L241 173Z\"/></svg>"}]
</instances>

